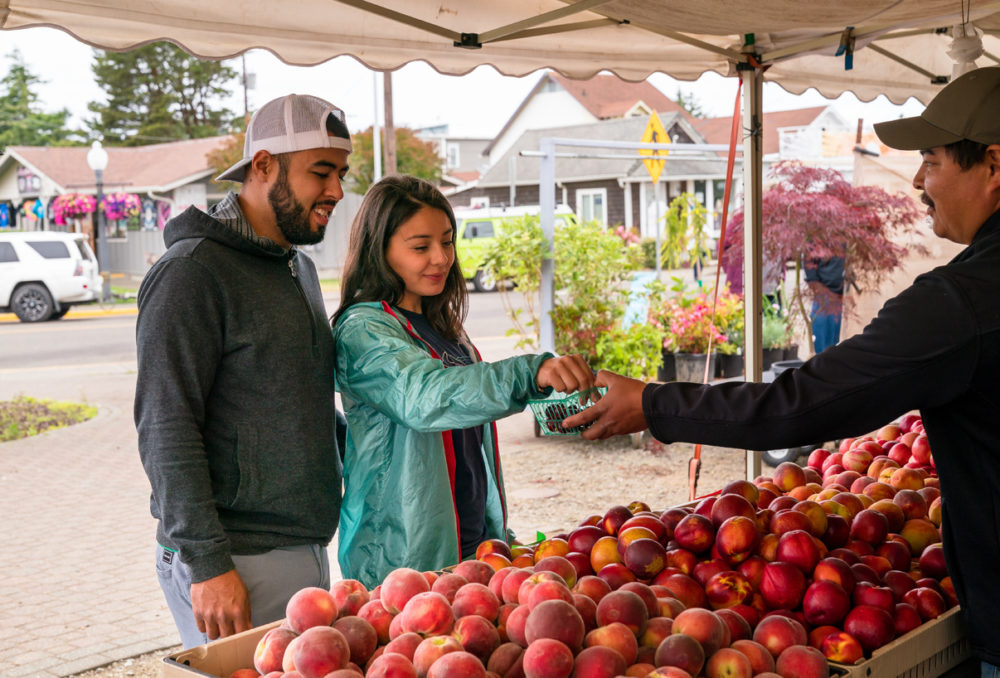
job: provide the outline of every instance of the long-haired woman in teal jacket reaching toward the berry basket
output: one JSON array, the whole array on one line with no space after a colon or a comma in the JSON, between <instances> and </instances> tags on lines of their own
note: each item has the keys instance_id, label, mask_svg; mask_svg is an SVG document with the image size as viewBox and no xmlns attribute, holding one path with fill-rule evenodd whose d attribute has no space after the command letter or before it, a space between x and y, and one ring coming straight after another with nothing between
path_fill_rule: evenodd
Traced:
<instances>
[{"instance_id":1,"label":"long-haired woman in teal jacket reaching toward the berry basket","mask_svg":"<svg viewBox=\"0 0 1000 678\"><path fill-rule=\"evenodd\" d=\"M481 360L454 234L441 192L405 176L372 186L351 227L332 321L348 422L338 555L368 587L509 540L495 420L593 386L579 356Z\"/></svg>"}]
</instances>

